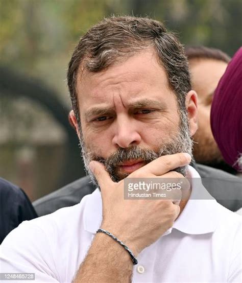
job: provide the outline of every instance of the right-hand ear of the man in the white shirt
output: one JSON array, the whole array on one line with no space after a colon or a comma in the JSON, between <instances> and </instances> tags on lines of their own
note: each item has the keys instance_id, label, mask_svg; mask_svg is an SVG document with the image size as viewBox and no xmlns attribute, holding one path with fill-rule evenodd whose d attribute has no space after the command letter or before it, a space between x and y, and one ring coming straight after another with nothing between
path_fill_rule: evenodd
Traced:
<instances>
[{"instance_id":1,"label":"right-hand ear of the man in the white shirt","mask_svg":"<svg viewBox=\"0 0 242 283\"><path fill-rule=\"evenodd\" d=\"M198 97L196 91L190 90L187 92L185 103L190 134L193 136L198 129Z\"/></svg>"}]
</instances>

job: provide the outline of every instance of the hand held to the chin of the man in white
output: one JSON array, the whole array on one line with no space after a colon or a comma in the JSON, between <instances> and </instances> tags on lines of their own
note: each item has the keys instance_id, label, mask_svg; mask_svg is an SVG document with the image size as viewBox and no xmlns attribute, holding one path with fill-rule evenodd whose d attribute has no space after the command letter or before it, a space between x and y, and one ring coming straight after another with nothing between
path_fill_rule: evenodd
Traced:
<instances>
[{"instance_id":1,"label":"hand held to the chin of the man in white","mask_svg":"<svg viewBox=\"0 0 242 283\"><path fill-rule=\"evenodd\" d=\"M173 170L186 166L190 161L187 153L162 156L134 171L129 178L183 178ZM125 200L124 180L113 182L98 161L91 161L89 166L101 188L101 228L113 233L136 256L172 227L180 213L179 202L173 203L177 196L174 195L174 199L170 200Z\"/></svg>"}]
</instances>

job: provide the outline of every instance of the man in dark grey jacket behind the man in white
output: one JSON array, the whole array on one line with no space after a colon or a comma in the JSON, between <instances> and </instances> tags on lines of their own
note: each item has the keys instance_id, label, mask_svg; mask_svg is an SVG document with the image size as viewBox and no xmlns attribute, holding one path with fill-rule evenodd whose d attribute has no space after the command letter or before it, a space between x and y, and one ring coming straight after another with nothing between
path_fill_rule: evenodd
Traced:
<instances>
[{"instance_id":1,"label":"man in dark grey jacket behind the man in white","mask_svg":"<svg viewBox=\"0 0 242 283\"><path fill-rule=\"evenodd\" d=\"M236 211L242 206L241 187L242 179L232 176L235 171L228 166L221 155L213 138L210 127L210 110L213 92L230 61L227 54L218 49L204 46L189 47L186 49L191 72L192 89L198 94L198 124L199 128L193 139L193 154L197 162L193 167L203 178L203 184L208 192L223 206ZM71 113L68 116L71 121ZM205 166L205 164L209 165ZM211 168L215 167L215 168ZM229 187L229 190L228 190ZM46 195L34 202L39 216L53 213L59 208L79 203L86 194L91 194L95 186L89 177L83 177L67 184L59 190Z\"/></svg>"}]
</instances>

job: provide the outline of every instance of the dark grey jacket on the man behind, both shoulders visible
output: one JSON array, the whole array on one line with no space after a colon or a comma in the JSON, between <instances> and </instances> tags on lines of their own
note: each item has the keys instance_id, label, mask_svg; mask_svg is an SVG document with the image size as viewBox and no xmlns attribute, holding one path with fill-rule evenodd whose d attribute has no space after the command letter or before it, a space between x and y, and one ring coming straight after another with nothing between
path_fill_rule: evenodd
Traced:
<instances>
[{"instance_id":1,"label":"dark grey jacket on the man behind, both shoulders visible","mask_svg":"<svg viewBox=\"0 0 242 283\"><path fill-rule=\"evenodd\" d=\"M226 208L237 211L242 206L242 178L202 164L194 164L207 191ZM38 216L53 213L59 208L72 206L91 194L95 187L89 177L80 178L59 190L36 200L33 205Z\"/></svg>"}]
</instances>

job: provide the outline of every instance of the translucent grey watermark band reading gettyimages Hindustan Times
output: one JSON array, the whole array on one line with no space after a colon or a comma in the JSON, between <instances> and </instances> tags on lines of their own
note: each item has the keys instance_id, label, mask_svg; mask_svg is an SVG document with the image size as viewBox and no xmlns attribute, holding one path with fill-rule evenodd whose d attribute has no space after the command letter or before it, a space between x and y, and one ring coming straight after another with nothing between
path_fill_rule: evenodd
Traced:
<instances>
[{"instance_id":1,"label":"translucent grey watermark band reading gettyimages Hindustan Times","mask_svg":"<svg viewBox=\"0 0 242 283\"><path fill-rule=\"evenodd\" d=\"M237 186L241 181L237 180ZM242 190L236 196L230 186L234 178L125 178L125 199L182 200L242 200ZM242 186L241 186L242 189Z\"/></svg>"}]
</instances>

